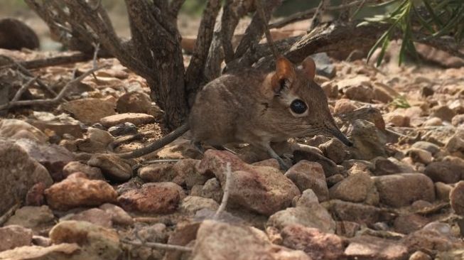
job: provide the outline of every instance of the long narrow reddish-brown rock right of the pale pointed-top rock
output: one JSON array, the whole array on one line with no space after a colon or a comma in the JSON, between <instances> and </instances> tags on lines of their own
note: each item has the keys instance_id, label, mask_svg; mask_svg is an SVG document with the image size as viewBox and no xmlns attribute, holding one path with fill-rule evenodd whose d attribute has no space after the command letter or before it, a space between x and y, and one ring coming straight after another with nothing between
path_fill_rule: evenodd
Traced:
<instances>
[{"instance_id":1,"label":"long narrow reddish-brown rock right of the pale pointed-top rock","mask_svg":"<svg viewBox=\"0 0 464 260\"><path fill-rule=\"evenodd\" d=\"M374 224L379 222L381 210L377 207L360 203L345 202L342 200L330 200L325 202L325 207L340 220Z\"/></svg>"}]
</instances>

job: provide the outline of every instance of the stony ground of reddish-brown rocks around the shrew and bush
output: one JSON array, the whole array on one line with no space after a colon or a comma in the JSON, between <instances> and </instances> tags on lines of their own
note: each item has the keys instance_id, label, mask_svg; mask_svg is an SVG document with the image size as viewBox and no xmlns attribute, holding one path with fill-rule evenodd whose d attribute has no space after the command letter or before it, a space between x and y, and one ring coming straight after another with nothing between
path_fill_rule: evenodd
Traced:
<instances>
[{"instance_id":1,"label":"stony ground of reddish-brown rocks around the shrew and bush","mask_svg":"<svg viewBox=\"0 0 464 260\"><path fill-rule=\"evenodd\" d=\"M114 156L109 149L130 151L166 129L144 80L99 60L109 67L59 105L2 115L0 259L463 259L464 67L398 67L393 54L378 68L315 58L355 147L298 139L316 153L291 151L286 172L274 159L249 161L242 146L231 147L239 156L202 156L188 134L141 159ZM90 67L34 74L59 92L75 68ZM11 91L0 104L26 81L1 71ZM39 86L22 95L47 97ZM228 174L227 208L215 215Z\"/></svg>"}]
</instances>

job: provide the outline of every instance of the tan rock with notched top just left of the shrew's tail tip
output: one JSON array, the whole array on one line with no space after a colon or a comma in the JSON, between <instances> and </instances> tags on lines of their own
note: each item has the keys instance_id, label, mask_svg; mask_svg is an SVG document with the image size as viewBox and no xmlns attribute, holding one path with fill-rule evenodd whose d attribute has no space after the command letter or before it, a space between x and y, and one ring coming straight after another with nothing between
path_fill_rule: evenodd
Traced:
<instances>
[{"instance_id":1,"label":"tan rock with notched top just left of the shrew's tail tip","mask_svg":"<svg viewBox=\"0 0 464 260\"><path fill-rule=\"evenodd\" d=\"M77 141L79 151L87 153L106 152L110 143L114 141L114 137L107 131L89 127L87 129L87 138Z\"/></svg>"}]
</instances>

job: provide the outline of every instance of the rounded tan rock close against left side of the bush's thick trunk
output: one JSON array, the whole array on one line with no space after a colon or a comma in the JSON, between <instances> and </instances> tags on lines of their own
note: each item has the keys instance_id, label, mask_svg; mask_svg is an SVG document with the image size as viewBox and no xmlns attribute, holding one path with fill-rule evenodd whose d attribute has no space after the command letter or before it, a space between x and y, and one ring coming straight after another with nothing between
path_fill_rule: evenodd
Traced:
<instances>
[{"instance_id":1,"label":"rounded tan rock close against left side of the bush's thick trunk","mask_svg":"<svg viewBox=\"0 0 464 260\"><path fill-rule=\"evenodd\" d=\"M150 114L151 99L148 94L141 92L123 94L116 103L116 111L118 113Z\"/></svg>"}]
</instances>

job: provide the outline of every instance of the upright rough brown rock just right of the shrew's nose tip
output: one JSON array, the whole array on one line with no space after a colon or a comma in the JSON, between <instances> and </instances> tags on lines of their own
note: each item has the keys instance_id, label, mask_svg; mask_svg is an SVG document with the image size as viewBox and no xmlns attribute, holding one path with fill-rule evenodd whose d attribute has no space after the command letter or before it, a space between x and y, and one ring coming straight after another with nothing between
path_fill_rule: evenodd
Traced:
<instances>
[{"instance_id":1,"label":"upright rough brown rock just right of the shrew's nose tip","mask_svg":"<svg viewBox=\"0 0 464 260\"><path fill-rule=\"evenodd\" d=\"M350 148L354 158L371 160L377 156L386 157L385 135L369 121L357 119L347 130L348 138L354 143Z\"/></svg>"}]
</instances>

